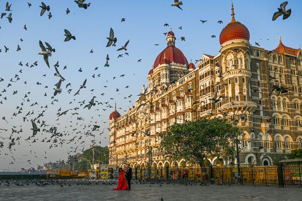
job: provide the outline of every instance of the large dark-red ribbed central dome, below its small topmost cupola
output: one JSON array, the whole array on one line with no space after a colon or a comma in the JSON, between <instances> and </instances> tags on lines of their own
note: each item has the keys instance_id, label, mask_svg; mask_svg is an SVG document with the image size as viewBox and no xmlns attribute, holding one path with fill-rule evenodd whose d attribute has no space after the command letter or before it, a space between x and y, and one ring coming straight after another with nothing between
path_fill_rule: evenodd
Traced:
<instances>
[{"instance_id":1,"label":"large dark-red ribbed central dome, below its small topmost cupola","mask_svg":"<svg viewBox=\"0 0 302 201\"><path fill-rule=\"evenodd\" d=\"M173 33L173 32L172 32ZM166 57L166 59L164 59ZM178 49L175 46L169 45L166 47L156 58L154 62L154 69L158 67L159 65L163 64L164 62L167 62L170 64L172 62L182 64L182 65L187 65L188 66L188 61L182 53L180 49Z\"/></svg>"}]
</instances>

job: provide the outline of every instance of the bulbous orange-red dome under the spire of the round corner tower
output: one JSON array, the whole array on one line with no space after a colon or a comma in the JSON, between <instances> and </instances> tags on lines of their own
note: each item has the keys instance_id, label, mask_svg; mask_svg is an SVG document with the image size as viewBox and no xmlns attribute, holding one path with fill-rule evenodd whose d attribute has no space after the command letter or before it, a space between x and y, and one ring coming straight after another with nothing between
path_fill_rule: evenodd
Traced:
<instances>
[{"instance_id":1,"label":"bulbous orange-red dome under the spire of the round corner tower","mask_svg":"<svg viewBox=\"0 0 302 201\"><path fill-rule=\"evenodd\" d=\"M248 28L240 22L229 23L222 29L219 36L220 45L222 45L226 41L234 39L244 39L247 41L250 40L250 32Z\"/></svg>"}]
</instances>

